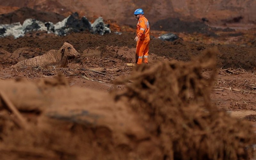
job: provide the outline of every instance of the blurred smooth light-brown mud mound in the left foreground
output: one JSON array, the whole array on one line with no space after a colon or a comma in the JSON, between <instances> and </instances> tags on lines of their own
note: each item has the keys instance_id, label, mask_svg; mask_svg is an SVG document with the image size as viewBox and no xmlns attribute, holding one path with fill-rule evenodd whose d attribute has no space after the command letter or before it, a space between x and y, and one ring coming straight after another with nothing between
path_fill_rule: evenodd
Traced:
<instances>
[{"instance_id":1,"label":"blurred smooth light-brown mud mound in the left foreground","mask_svg":"<svg viewBox=\"0 0 256 160\"><path fill-rule=\"evenodd\" d=\"M132 158L138 153L130 135L148 137L124 103L115 103L108 93L71 88L63 77L2 81L0 88L1 159L122 159L129 153ZM19 110L13 119L3 110L10 103Z\"/></svg>"}]
</instances>

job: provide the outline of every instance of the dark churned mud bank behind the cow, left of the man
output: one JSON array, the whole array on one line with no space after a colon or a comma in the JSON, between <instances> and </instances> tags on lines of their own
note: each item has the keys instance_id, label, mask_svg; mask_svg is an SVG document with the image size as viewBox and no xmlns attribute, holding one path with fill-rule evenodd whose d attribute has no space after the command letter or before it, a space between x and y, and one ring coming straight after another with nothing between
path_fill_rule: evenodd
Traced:
<instances>
[{"instance_id":1,"label":"dark churned mud bank behind the cow, left of the man","mask_svg":"<svg viewBox=\"0 0 256 160\"><path fill-rule=\"evenodd\" d=\"M27 47L41 48L45 51L51 49L59 49L64 43L70 43L76 48L78 52L83 52L88 48L100 49L106 48L106 46L128 46L129 48L136 47L134 41L135 34L123 33L122 35L116 35L110 33L104 36L94 35L88 33L88 31L73 33L67 36L55 36L48 38L34 38L34 37L21 37L18 39L13 39L11 37L0 38L0 47L6 51L14 52L16 49Z\"/></svg>"}]
</instances>

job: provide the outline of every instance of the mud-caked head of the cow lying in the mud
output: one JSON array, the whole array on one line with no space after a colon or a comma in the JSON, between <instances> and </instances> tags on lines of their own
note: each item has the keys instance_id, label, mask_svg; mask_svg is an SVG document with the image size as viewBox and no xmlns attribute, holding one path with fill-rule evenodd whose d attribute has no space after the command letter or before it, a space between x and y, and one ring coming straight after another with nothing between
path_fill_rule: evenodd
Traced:
<instances>
[{"instance_id":1,"label":"mud-caked head of the cow lying in the mud","mask_svg":"<svg viewBox=\"0 0 256 160\"><path fill-rule=\"evenodd\" d=\"M61 57L67 57L68 63L70 63L74 58L79 58L80 53L69 43L64 43L60 49Z\"/></svg>"}]
</instances>

